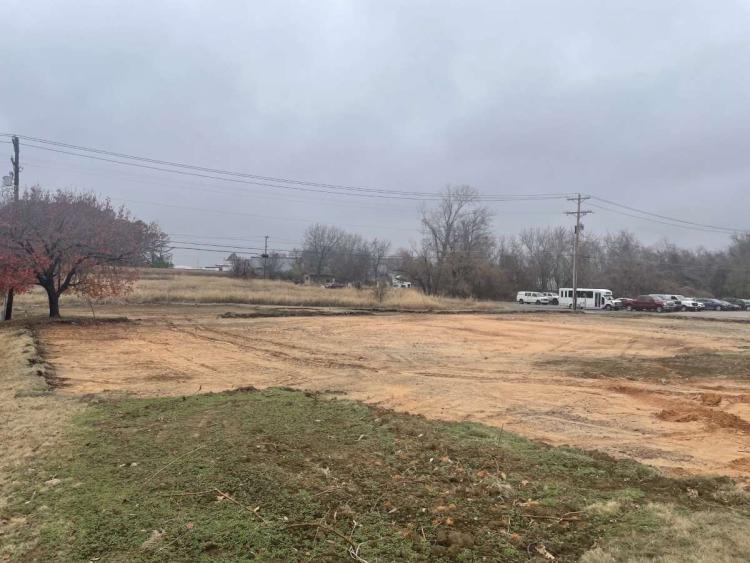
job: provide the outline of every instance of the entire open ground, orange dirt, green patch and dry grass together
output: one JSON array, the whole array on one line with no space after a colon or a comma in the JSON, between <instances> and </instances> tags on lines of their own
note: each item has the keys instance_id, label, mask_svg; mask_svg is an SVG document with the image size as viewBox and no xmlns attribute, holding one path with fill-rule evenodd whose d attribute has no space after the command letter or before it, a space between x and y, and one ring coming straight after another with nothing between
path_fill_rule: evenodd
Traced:
<instances>
[{"instance_id":1,"label":"entire open ground, orange dirt, green patch and dry grass together","mask_svg":"<svg viewBox=\"0 0 750 563\"><path fill-rule=\"evenodd\" d=\"M746 324L176 304L372 300L149 272L0 326L0 560L750 560Z\"/></svg>"}]
</instances>

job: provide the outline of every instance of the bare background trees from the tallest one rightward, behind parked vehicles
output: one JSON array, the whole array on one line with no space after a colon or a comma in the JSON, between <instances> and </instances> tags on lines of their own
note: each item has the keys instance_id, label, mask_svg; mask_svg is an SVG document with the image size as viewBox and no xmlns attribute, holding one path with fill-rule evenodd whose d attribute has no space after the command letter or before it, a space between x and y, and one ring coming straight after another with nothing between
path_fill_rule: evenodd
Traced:
<instances>
[{"instance_id":1,"label":"bare background trees from the tallest one rightward, behind parked vehicles","mask_svg":"<svg viewBox=\"0 0 750 563\"><path fill-rule=\"evenodd\" d=\"M482 299L512 298L521 289L556 291L572 285L573 229L525 229L493 235L491 211L476 190L445 191L421 213L422 238L401 251L400 267L426 293ZM750 234L734 235L724 250L641 243L629 231L583 235L579 286L616 295L682 293L750 296Z\"/></svg>"}]
</instances>

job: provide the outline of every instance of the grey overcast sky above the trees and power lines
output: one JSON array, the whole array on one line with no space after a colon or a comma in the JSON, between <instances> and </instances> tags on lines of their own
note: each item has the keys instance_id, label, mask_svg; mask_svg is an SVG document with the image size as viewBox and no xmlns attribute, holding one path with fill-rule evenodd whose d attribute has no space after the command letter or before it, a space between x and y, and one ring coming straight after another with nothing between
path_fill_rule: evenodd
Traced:
<instances>
[{"instance_id":1,"label":"grey overcast sky above the trees and power lines","mask_svg":"<svg viewBox=\"0 0 750 563\"><path fill-rule=\"evenodd\" d=\"M0 33L2 132L323 183L580 191L750 228L748 0L3 7L12 17ZM22 185L127 201L177 240L252 247L267 234L284 249L316 221L396 246L419 235L409 200L178 176L23 142L21 150ZM571 224L564 200L492 207L498 234ZM589 232L627 228L691 247L728 240L594 210ZM222 258L175 254L191 265Z\"/></svg>"}]
</instances>

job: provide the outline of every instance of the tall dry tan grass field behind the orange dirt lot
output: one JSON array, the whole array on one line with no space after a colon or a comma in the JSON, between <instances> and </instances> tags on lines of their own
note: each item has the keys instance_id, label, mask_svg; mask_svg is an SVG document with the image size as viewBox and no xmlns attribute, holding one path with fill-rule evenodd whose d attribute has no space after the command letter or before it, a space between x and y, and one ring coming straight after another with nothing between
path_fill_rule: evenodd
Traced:
<instances>
[{"instance_id":1,"label":"tall dry tan grass field behind the orange dirt lot","mask_svg":"<svg viewBox=\"0 0 750 563\"><path fill-rule=\"evenodd\" d=\"M19 306L44 305L41 289L18 298ZM75 295L63 297L65 304L86 304ZM127 295L98 301L108 304L146 303L243 303L305 307L383 308L404 310L481 309L500 305L471 299L431 297L416 289L392 289L379 302L371 289L325 289L271 280L245 280L226 275L179 270L144 270Z\"/></svg>"}]
</instances>

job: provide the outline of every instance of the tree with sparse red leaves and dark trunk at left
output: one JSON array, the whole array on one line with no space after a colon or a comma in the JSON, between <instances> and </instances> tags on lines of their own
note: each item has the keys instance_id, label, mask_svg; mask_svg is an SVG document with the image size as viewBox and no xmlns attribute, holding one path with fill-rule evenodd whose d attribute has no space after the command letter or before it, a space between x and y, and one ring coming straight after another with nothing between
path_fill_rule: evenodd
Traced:
<instances>
[{"instance_id":1,"label":"tree with sparse red leaves and dark trunk at left","mask_svg":"<svg viewBox=\"0 0 750 563\"><path fill-rule=\"evenodd\" d=\"M56 318L68 290L95 298L127 291L163 236L94 194L32 188L0 207L0 288L40 285Z\"/></svg>"}]
</instances>

